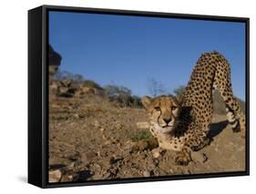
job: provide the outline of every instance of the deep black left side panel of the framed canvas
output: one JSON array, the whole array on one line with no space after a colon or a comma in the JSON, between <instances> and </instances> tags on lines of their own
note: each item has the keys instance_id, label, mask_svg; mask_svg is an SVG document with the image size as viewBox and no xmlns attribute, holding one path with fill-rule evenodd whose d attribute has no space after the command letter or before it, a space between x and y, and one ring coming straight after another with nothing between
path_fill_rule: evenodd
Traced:
<instances>
[{"instance_id":1,"label":"deep black left side panel of the framed canvas","mask_svg":"<svg viewBox=\"0 0 256 194\"><path fill-rule=\"evenodd\" d=\"M43 142L42 132L42 7L28 11L28 134L27 134L27 181L38 187L43 187L42 179L44 177L42 166ZM36 130L35 130L36 129Z\"/></svg>"}]
</instances>

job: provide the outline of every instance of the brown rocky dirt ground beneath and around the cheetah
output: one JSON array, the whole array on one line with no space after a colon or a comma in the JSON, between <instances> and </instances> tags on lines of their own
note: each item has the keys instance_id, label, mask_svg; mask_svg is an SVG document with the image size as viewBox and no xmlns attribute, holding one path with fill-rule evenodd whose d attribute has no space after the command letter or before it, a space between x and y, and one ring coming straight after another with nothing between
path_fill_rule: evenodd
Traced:
<instances>
[{"instance_id":1,"label":"brown rocky dirt ground beneath and around the cheetah","mask_svg":"<svg viewBox=\"0 0 256 194\"><path fill-rule=\"evenodd\" d=\"M196 155L204 160L178 166L174 153L158 158L156 141L137 123L148 121L145 110L120 108L107 99L49 99L49 181L86 181L245 170L245 141L224 115L215 114L210 145Z\"/></svg>"}]
</instances>

